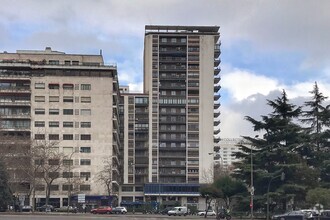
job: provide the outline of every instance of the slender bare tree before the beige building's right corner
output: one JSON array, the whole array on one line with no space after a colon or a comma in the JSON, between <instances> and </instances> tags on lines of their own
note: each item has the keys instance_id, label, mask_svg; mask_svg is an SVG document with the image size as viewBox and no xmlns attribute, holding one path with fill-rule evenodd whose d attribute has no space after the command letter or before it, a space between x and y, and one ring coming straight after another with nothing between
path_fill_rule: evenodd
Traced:
<instances>
[{"instance_id":1,"label":"slender bare tree before the beige building's right corner","mask_svg":"<svg viewBox=\"0 0 330 220\"><path fill-rule=\"evenodd\" d=\"M101 169L97 175L97 181L100 182L102 185L104 185L107 189L108 196L110 198L112 194L112 181L113 181L113 165L112 165L112 159L106 158L103 161L103 169ZM110 200L109 200L110 203ZM111 205L111 204L109 204Z\"/></svg>"}]
</instances>

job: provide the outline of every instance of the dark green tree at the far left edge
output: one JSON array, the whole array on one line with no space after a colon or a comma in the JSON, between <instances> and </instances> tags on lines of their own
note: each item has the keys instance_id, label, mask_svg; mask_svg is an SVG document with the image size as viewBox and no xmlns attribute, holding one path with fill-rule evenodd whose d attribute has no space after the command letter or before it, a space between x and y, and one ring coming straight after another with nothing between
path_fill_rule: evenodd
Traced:
<instances>
[{"instance_id":1,"label":"dark green tree at the far left edge","mask_svg":"<svg viewBox=\"0 0 330 220\"><path fill-rule=\"evenodd\" d=\"M12 193L8 184L6 167L0 159L0 208L6 208L12 203Z\"/></svg>"}]
</instances>

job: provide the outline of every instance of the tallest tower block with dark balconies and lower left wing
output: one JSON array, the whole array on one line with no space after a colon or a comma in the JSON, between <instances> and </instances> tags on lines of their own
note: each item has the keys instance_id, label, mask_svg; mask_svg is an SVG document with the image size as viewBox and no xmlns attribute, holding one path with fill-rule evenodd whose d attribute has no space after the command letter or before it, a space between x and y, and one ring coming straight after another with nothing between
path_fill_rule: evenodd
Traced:
<instances>
[{"instance_id":1,"label":"tallest tower block with dark balconies and lower left wing","mask_svg":"<svg viewBox=\"0 0 330 220\"><path fill-rule=\"evenodd\" d=\"M139 190L124 185L124 203L201 203L199 186L210 179L206 172L213 177L212 154L219 150L219 55L217 26L146 26L144 94L127 95L124 104L132 123L125 134L135 131L134 141L123 144L129 155L124 184ZM140 117L146 118L141 124Z\"/></svg>"}]
</instances>

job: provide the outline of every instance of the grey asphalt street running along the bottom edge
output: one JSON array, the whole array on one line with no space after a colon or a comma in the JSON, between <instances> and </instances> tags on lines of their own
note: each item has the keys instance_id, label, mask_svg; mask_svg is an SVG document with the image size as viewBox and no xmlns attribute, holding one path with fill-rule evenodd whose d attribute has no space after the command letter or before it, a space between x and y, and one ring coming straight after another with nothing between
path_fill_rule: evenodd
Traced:
<instances>
[{"instance_id":1,"label":"grey asphalt street running along the bottom edge","mask_svg":"<svg viewBox=\"0 0 330 220\"><path fill-rule=\"evenodd\" d=\"M126 214L126 215L93 215L93 214L66 214L66 213L0 213L1 220L80 220L80 219L204 219L201 216L167 216L167 215L143 215L143 214ZM215 219L208 216L207 219Z\"/></svg>"}]
</instances>

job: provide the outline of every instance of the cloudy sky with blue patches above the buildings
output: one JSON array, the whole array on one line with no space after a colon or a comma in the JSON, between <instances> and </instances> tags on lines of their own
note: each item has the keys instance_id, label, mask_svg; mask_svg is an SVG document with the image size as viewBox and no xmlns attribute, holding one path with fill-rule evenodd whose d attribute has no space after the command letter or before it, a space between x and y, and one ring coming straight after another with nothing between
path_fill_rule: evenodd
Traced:
<instances>
[{"instance_id":1,"label":"cloudy sky with blue patches above the buildings","mask_svg":"<svg viewBox=\"0 0 330 220\"><path fill-rule=\"evenodd\" d=\"M330 96L328 0L0 0L0 52L99 54L120 85L141 92L145 25L220 26L221 138L254 136L259 119L286 91Z\"/></svg>"}]
</instances>

